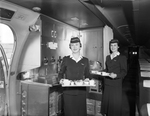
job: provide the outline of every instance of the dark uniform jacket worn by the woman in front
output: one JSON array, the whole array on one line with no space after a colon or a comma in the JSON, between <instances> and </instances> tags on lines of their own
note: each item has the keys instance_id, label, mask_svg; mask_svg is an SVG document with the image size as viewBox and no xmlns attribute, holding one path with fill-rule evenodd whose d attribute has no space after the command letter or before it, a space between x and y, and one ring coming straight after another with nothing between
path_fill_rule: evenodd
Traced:
<instances>
[{"instance_id":1,"label":"dark uniform jacket worn by the woman in front","mask_svg":"<svg viewBox=\"0 0 150 116\"><path fill-rule=\"evenodd\" d=\"M89 60L82 57L80 61L76 62L70 56L65 56L58 77L59 79L66 78L73 81L90 79ZM85 90L85 87L64 87L64 93L71 95L85 94Z\"/></svg>"}]
</instances>

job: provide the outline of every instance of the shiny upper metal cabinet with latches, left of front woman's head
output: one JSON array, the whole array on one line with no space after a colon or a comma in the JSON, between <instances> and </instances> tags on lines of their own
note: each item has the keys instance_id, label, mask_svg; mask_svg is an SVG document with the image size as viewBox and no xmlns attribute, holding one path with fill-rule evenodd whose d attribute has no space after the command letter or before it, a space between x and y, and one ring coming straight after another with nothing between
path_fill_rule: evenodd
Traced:
<instances>
[{"instance_id":1,"label":"shiny upper metal cabinet with latches, left of front woman's head","mask_svg":"<svg viewBox=\"0 0 150 116\"><path fill-rule=\"evenodd\" d=\"M58 58L69 55L70 39L73 35L76 36L78 32L77 29L71 26L43 16L41 63L43 63L44 58L47 58L51 63L51 61L55 62Z\"/></svg>"}]
</instances>

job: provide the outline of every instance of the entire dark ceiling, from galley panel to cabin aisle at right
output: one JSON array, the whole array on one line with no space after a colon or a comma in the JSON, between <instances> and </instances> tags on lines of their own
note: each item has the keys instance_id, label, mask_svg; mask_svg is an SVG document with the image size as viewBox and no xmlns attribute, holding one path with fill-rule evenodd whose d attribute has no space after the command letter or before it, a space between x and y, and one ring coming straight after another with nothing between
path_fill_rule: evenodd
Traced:
<instances>
[{"instance_id":1,"label":"entire dark ceiling, from galley panel to cabin aisle at right","mask_svg":"<svg viewBox=\"0 0 150 116\"><path fill-rule=\"evenodd\" d=\"M150 0L5 0L55 18L79 30L109 25L124 45L150 49Z\"/></svg>"}]
</instances>

